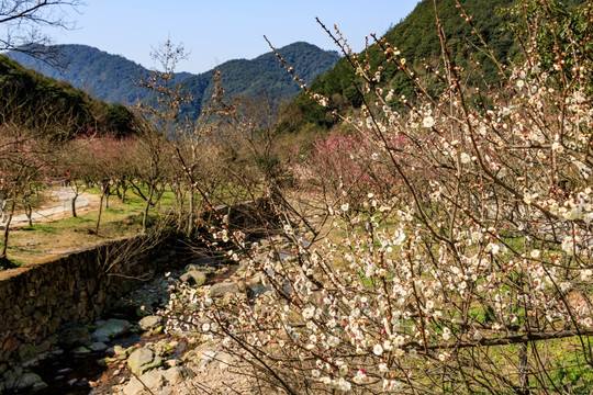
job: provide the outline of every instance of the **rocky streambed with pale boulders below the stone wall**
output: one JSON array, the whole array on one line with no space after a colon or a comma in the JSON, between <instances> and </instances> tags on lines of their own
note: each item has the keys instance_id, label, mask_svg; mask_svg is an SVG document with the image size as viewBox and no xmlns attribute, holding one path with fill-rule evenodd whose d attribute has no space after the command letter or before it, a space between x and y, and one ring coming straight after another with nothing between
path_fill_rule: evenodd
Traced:
<instances>
[{"instance_id":1,"label":"rocky streambed with pale boulders below the stone wall","mask_svg":"<svg viewBox=\"0 0 593 395\"><path fill-rule=\"evenodd\" d=\"M269 244L262 240L261 256ZM290 259L290 253L282 258ZM43 345L23 350L21 366L0 372L0 394L255 393L248 376L230 369L237 361L221 345L201 343L189 334L165 335L164 318L156 313L169 303L178 282L225 298L265 291L259 279L246 272L245 264L221 264L205 256L167 274L118 301L104 319L66 325Z\"/></svg>"}]
</instances>

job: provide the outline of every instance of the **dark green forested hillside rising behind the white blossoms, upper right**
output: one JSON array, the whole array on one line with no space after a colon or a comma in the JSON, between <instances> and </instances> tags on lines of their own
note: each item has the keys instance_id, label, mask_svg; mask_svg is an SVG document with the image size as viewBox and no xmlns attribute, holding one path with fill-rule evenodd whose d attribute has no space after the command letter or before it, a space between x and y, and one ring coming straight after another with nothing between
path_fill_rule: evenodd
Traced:
<instances>
[{"instance_id":1,"label":"dark green forested hillside rising behind the white blossoms, upper right","mask_svg":"<svg viewBox=\"0 0 593 395\"><path fill-rule=\"evenodd\" d=\"M562 1L567 7L581 4L582 0ZM480 65L481 76L474 77L469 83L491 83L497 80L499 69L489 59L486 50L473 29L480 33L488 47L502 64L517 60L521 48L515 42L515 35L506 29L506 18L502 10L516 3L515 0L460 0L461 8L455 1L438 1L438 14L443 30L447 37L448 49L452 54L455 65L467 70ZM471 18L467 23L465 11ZM401 23L395 25L383 36L392 47L400 50L401 58L406 59L406 67L418 77L426 75L428 65L432 70L441 68L439 57L441 46L435 24L435 10L433 0L421 1L414 11ZM382 68L380 81L372 81L373 87L393 89L394 99L401 95L413 98L415 92L412 81L403 74L398 72L400 65L388 63L387 57L377 45L359 54L359 60L369 58L373 72ZM471 59L471 60L470 60ZM356 59L355 59L356 60ZM357 89L356 86L359 88ZM340 59L336 66L325 75L317 78L311 90L332 99L328 109L322 109L311 100L307 94L301 93L286 109L283 129L296 131L304 125L310 127L328 127L335 119L331 116L333 110L347 114L361 105L359 89L363 84L361 77L355 75L353 66L346 58ZM437 87L435 87L437 89ZM394 103L394 102L393 102ZM392 104L393 104L392 103Z\"/></svg>"}]
</instances>

